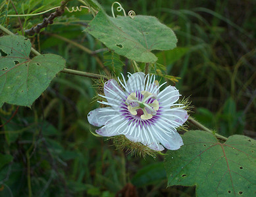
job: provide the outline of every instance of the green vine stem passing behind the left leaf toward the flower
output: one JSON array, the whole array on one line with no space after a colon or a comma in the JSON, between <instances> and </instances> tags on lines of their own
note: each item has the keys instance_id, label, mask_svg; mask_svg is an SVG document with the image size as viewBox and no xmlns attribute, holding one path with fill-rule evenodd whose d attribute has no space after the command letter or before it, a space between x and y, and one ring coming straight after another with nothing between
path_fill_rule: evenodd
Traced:
<instances>
[{"instance_id":1,"label":"green vine stem passing behind the left leaf toward the flower","mask_svg":"<svg viewBox=\"0 0 256 197\"><path fill-rule=\"evenodd\" d=\"M9 35L15 35L13 32L10 32L9 30L7 30L7 28L1 26L1 24L0 24L0 30L2 30L3 32L5 32ZM34 53L34 55L41 55L33 47L31 47L31 52ZM82 71L72 70L72 69L68 69L68 68L64 68L61 72L76 75L76 76L91 77L91 78L94 78L94 79L100 79L100 78L108 79L108 77L102 76L102 75L99 75L99 74L93 74L93 73L90 73L90 72L82 72Z\"/></svg>"}]
</instances>

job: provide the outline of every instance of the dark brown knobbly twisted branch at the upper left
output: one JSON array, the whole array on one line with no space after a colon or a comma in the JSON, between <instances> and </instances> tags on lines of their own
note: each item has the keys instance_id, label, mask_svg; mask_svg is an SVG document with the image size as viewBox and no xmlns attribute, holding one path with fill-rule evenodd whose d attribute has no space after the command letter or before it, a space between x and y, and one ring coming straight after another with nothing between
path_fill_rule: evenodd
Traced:
<instances>
[{"instance_id":1,"label":"dark brown knobbly twisted branch at the upper left","mask_svg":"<svg viewBox=\"0 0 256 197\"><path fill-rule=\"evenodd\" d=\"M64 9L68 1L72 0L61 1L61 6L57 8L55 12L51 13L48 18L43 18L43 22L37 24L36 27L25 30L25 33L27 33L28 35L34 35L35 33L39 33L42 28L46 28L48 24L53 24L54 18L56 18L57 16L61 16L64 13Z\"/></svg>"}]
</instances>

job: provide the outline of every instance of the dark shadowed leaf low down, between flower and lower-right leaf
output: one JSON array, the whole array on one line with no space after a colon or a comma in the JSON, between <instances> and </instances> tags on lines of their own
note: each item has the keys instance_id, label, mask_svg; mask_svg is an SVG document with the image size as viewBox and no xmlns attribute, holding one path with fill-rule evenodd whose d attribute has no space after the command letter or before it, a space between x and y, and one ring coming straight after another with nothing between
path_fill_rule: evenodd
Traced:
<instances>
[{"instance_id":1,"label":"dark shadowed leaf low down, between flower and lower-right leaf","mask_svg":"<svg viewBox=\"0 0 256 197\"><path fill-rule=\"evenodd\" d=\"M149 164L136 173L132 178L132 184L136 187L159 183L166 179L166 172L163 162Z\"/></svg>"}]
</instances>

